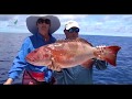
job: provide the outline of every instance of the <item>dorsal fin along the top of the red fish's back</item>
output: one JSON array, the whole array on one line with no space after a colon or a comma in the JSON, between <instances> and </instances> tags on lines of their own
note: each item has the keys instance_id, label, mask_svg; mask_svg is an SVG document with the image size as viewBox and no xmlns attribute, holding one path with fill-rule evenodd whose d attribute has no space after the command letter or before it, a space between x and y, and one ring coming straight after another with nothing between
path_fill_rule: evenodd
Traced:
<instances>
[{"instance_id":1,"label":"dorsal fin along the top of the red fish's back","mask_svg":"<svg viewBox=\"0 0 132 99\"><path fill-rule=\"evenodd\" d=\"M56 41L56 43L66 43L66 42L82 42L82 43L86 43L86 44L89 44L90 46L92 46L91 43L89 43L88 41L86 41L85 38L81 38L81 37L77 37L76 40L58 40L58 41Z\"/></svg>"}]
</instances>

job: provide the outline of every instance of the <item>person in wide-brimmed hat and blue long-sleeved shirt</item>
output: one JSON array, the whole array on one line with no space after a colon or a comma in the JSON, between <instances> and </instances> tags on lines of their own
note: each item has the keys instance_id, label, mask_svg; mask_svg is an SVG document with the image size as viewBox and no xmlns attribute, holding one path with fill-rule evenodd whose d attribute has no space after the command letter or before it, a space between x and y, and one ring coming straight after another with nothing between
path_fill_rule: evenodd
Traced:
<instances>
[{"instance_id":1,"label":"person in wide-brimmed hat and blue long-sleeved shirt","mask_svg":"<svg viewBox=\"0 0 132 99\"><path fill-rule=\"evenodd\" d=\"M33 35L23 41L21 50L9 70L9 78L3 85L11 85L22 72L24 72L23 85L53 84L53 72L46 66L33 66L26 63L25 56L35 48L56 41L52 34L59 29L59 19L54 15L33 15L26 19L26 26Z\"/></svg>"}]
</instances>

